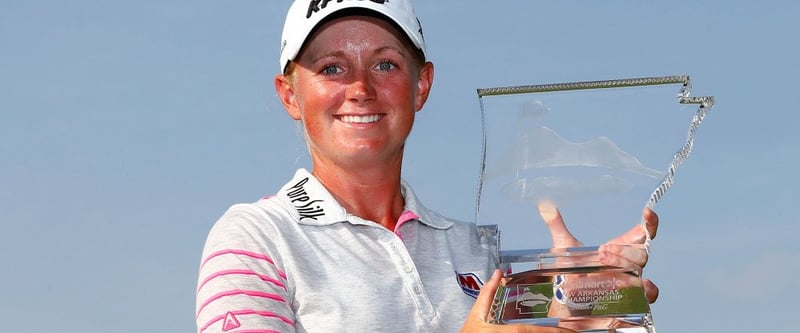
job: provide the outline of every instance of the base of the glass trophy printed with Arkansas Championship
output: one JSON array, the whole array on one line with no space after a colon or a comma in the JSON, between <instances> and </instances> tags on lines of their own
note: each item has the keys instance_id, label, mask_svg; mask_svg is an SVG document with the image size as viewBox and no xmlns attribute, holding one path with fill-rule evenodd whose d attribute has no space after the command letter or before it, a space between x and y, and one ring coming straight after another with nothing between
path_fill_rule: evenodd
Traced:
<instances>
[{"instance_id":1,"label":"base of the glass trophy printed with Arkansas Championship","mask_svg":"<svg viewBox=\"0 0 800 333\"><path fill-rule=\"evenodd\" d=\"M597 248L507 251L503 255L503 263L534 262L536 267L502 279L489 322L557 326L579 332L655 333L638 272L602 265Z\"/></svg>"}]
</instances>

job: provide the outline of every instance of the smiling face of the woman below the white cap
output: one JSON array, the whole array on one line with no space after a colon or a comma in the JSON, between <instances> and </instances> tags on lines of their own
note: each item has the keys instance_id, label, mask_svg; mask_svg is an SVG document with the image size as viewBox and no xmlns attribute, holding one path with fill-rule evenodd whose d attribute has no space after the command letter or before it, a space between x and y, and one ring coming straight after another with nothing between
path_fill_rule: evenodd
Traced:
<instances>
[{"instance_id":1,"label":"smiling face of the woman below the white cap","mask_svg":"<svg viewBox=\"0 0 800 333\"><path fill-rule=\"evenodd\" d=\"M309 38L293 73L276 79L287 111L305 126L315 164L402 160L433 79L433 66L420 67L402 38L378 18L334 19Z\"/></svg>"}]
</instances>

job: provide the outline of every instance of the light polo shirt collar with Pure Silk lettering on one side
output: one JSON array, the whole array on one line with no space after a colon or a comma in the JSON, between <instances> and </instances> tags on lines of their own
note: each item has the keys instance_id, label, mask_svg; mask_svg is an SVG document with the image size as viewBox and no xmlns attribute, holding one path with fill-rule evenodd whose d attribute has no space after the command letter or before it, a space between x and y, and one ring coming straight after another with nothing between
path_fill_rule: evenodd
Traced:
<instances>
[{"instance_id":1,"label":"light polo shirt collar with Pure Silk lettering on one side","mask_svg":"<svg viewBox=\"0 0 800 333\"><path fill-rule=\"evenodd\" d=\"M405 199L404 216L407 217L410 212L416 215L421 223L436 229L447 229L453 225L452 222L437 216L436 213L428 211L422 206L405 181L401 182L401 186ZM298 169L294 178L281 188L277 197L290 207L290 214L300 224L324 226L341 222L368 223L357 216L348 214L328 189L306 169Z\"/></svg>"}]
</instances>

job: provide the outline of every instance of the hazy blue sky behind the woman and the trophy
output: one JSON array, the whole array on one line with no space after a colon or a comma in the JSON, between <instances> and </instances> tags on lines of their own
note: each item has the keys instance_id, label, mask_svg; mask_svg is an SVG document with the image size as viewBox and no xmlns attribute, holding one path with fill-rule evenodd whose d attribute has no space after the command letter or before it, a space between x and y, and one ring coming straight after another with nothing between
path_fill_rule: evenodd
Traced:
<instances>
[{"instance_id":1,"label":"hazy blue sky behind the woman and the trophy","mask_svg":"<svg viewBox=\"0 0 800 333\"><path fill-rule=\"evenodd\" d=\"M195 330L212 224L309 166L272 86L288 5L0 0L4 331ZM475 219L477 88L690 75L717 103L656 207L656 327L796 329L798 2L415 6L436 78L404 178L427 207Z\"/></svg>"}]
</instances>

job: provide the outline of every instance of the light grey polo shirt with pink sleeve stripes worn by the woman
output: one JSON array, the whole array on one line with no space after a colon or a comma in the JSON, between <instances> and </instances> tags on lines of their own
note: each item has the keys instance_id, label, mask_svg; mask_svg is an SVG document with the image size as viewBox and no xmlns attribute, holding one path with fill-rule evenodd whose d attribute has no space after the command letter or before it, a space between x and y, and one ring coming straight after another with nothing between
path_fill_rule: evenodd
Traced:
<instances>
[{"instance_id":1,"label":"light grey polo shirt with pink sleeve stripes worn by the woman","mask_svg":"<svg viewBox=\"0 0 800 333\"><path fill-rule=\"evenodd\" d=\"M392 232L308 171L211 229L199 332L458 332L496 267L494 234L423 207L403 183Z\"/></svg>"}]
</instances>

